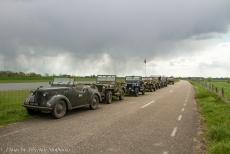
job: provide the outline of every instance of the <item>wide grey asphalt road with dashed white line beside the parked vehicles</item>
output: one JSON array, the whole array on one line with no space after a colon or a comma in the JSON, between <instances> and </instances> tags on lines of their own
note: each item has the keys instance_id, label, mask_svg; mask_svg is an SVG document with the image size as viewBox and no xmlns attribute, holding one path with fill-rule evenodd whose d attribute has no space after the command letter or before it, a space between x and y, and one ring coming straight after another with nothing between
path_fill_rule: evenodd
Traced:
<instances>
[{"instance_id":1,"label":"wide grey asphalt road with dashed white line beside the parked vehicles","mask_svg":"<svg viewBox=\"0 0 230 154\"><path fill-rule=\"evenodd\" d=\"M190 154L197 131L194 91L181 81L95 111L78 109L59 120L38 116L0 128L0 153Z\"/></svg>"}]
</instances>

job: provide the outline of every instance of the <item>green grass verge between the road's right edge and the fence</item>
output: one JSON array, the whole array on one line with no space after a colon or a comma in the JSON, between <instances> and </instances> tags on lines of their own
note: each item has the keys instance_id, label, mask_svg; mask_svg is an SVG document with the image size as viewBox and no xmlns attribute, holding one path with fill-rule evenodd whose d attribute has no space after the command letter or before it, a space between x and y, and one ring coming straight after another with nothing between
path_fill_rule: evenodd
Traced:
<instances>
[{"instance_id":1,"label":"green grass verge between the road's right edge and the fence","mask_svg":"<svg viewBox=\"0 0 230 154\"><path fill-rule=\"evenodd\" d=\"M208 153L230 154L230 105L198 83L192 84L196 89L196 99L206 125Z\"/></svg>"}]
</instances>

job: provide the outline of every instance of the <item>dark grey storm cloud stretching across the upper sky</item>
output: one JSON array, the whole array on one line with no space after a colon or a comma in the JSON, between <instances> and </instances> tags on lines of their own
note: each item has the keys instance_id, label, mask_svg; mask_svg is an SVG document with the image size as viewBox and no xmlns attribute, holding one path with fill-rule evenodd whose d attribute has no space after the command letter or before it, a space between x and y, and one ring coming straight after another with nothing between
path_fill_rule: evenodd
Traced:
<instances>
[{"instance_id":1,"label":"dark grey storm cloud stretching across the upper sky","mask_svg":"<svg viewBox=\"0 0 230 154\"><path fill-rule=\"evenodd\" d=\"M184 40L225 33L229 8L228 0L2 0L0 56L15 68L20 55L68 53L81 63L106 53L128 69L125 61L179 55L191 50L180 49Z\"/></svg>"}]
</instances>

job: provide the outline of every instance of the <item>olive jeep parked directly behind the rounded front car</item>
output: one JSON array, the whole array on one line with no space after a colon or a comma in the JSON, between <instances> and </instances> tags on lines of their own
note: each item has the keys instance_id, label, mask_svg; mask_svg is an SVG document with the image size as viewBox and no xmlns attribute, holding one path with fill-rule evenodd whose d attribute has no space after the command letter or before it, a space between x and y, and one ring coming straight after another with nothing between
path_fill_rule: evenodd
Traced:
<instances>
[{"instance_id":1,"label":"olive jeep parked directly behind the rounded front car","mask_svg":"<svg viewBox=\"0 0 230 154\"><path fill-rule=\"evenodd\" d=\"M116 75L98 75L96 86L101 94L102 100L107 104L112 102L112 97L124 99L125 85L117 81Z\"/></svg>"}]
</instances>

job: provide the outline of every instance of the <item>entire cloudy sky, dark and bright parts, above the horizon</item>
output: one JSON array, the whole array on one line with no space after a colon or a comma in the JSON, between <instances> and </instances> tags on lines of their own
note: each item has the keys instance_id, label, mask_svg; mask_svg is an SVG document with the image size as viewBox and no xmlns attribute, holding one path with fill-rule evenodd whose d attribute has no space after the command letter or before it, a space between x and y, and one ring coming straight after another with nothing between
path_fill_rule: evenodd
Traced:
<instances>
[{"instance_id":1,"label":"entire cloudy sky, dark and bright parts, above the horizon","mask_svg":"<svg viewBox=\"0 0 230 154\"><path fill-rule=\"evenodd\" d=\"M0 70L230 76L229 0L0 0Z\"/></svg>"}]
</instances>

